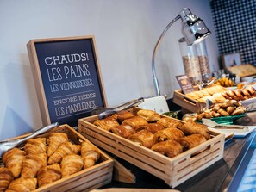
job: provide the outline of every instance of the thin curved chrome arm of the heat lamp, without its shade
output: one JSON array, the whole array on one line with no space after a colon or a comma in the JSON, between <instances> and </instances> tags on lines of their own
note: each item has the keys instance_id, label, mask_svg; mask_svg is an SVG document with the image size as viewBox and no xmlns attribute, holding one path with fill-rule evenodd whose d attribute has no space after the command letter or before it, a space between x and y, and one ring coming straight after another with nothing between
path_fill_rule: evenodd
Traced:
<instances>
[{"instance_id":1,"label":"thin curved chrome arm of the heat lamp, without its shade","mask_svg":"<svg viewBox=\"0 0 256 192\"><path fill-rule=\"evenodd\" d=\"M158 81L158 78L156 76L156 71L155 71L155 65L154 65L154 59L155 59L155 55L156 55L156 52L159 48L159 44L161 43L163 37L165 36L165 33L167 32L167 30L172 26L172 24L174 22L176 22L178 19L180 19L180 15L178 15L176 18L174 18L172 20L172 22L170 22L165 30L163 31L163 33L161 34L161 36L159 37L159 40L157 42L157 44L154 46L154 49L153 49L153 56L152 56L152 72L153 72L153 84L154 84L154 87L155 87L155 90L156 90L156 94L157 96L160 96L160 90L159 90L159 81Z\"/></svg>"}]
</instances>

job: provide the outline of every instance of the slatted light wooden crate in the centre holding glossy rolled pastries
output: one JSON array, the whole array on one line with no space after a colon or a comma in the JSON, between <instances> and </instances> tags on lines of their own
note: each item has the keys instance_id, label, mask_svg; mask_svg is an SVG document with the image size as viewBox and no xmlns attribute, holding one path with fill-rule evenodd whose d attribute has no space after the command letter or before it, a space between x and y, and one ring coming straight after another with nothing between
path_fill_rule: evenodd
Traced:
<instances>
[{"instance_id":1,"label":"slatted light wooden crate in the centre holding glossy rolled pastries","mask_svg":"<svg viewBox=\"0 0 256 192\"><path fill-rule=\"evenodd\" d=\"M134 113L137 110L137 108L130 109ZM211 132L212 138L200 146L174 158L168 158L115 133L94 126L92 122L95 120L97 120L97 115L78 120L78 132L95 145L159 177L172 188L223 157L224 135L220 133ZM204 151L201 152L202 150Z\"/></svg>"}]
</instances>

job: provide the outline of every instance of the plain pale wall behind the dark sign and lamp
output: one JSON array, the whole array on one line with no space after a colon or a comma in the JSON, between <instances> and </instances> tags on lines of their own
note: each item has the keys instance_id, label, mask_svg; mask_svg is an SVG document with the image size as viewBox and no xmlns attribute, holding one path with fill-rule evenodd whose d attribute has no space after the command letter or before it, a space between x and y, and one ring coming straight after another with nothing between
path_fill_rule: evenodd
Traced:
<instances>
[{"instance_id":1,"label":"plain pale wall behind the dark sign and lamp","mask_svg":"<svg viewBox=\"0 0 256 192\"><path fill-rule=\"evenodd\" d=\"M28 40L95 35L109 106L154 96L153 47L166 25L189 7L213 34L209 62L217 69L217 45L209 1L205 0L1 0L0 139L42 126L28 61ZM161 93L172 97L175 76L184 74L174 23L159 46L156 71Z\"/></svg>"}]
</instances>

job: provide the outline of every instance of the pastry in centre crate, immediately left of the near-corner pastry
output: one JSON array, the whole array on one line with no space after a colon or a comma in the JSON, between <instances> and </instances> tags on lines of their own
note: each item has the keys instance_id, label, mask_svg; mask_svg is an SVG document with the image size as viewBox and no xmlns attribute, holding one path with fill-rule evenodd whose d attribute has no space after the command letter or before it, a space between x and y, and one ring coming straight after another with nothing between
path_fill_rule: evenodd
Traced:
<instances>
[{"instance_id":1,"label":"pastry in centre crate, immediately left of the near-corner pastry","mask_svg":"<svg viewBox=\"0 0 256 192\"><path fill-rule=\"evenodd\" d=\"M131 134L128 139L139 143L141 146L146 146L147 148L151 148L157 142L155 135L147 130L141 130Z\"/></svg>"}]
</instances>

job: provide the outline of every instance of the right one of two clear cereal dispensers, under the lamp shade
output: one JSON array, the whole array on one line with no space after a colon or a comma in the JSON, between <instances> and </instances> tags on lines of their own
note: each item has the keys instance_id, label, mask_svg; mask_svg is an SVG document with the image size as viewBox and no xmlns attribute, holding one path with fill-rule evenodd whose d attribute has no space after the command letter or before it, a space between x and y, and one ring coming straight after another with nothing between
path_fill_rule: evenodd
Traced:
<instances>
[{"instance_id":1,"label":"right one of two clear cereal dispensers, under the lamp shade","mask_svg":"<svg viewBox=\"0 0 256 192\"><path fill-rule=\"evenodd\" d=\"M208 82L211 77L211 71L209 66L208 53L206 49L205 40L200 41L195 45L197 47L197 55L200 66L200 72L203 82Z\"/></svg>"}]
</instances>

